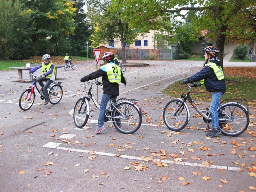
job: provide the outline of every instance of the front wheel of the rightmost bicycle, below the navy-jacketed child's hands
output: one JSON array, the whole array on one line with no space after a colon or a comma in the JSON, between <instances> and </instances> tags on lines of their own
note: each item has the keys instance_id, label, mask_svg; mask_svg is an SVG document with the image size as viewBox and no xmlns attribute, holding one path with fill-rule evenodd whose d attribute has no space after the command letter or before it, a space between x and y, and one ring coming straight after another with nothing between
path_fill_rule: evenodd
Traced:
<instances>
[{"instance_id":1,"label":"front wheel of the rightmost bicycle, below the navy-jacketed child's hands","mask_svg":"<svg viewBox=\"0 0 256 192\"><path fill-rule=\"evenodd\" d=\"M168 129L172 131L180 131L186 127L188 124L188 110L182 104L181 100L174 99L169 101L166 106L164 107L163 118L164 123ZM174 113L180 108L180 112L174 116Z\"/></svg>"}]
</instances>

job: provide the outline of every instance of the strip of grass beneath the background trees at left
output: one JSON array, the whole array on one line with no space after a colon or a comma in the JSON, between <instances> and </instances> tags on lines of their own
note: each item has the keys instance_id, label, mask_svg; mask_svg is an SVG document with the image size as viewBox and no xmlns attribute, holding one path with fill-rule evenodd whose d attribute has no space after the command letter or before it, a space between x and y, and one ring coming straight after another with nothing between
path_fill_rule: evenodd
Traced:
<instances>
[{"instance_id":1,"label":"strip of grass beneath the background trees at left","mask_svg":"<svg viewBox=\"0 0 256 192\"><path fill-rule=\"evenodd\" d=\"M59 65L64 63L64 57L65 56L52 56L50 60L53 64ZM72 62L87 60L87 57L80 57L80 56L71 56L71 57L73 58ZM94 59L89 58L89 60L94 60ZM26 63L41 64L42 57L34 56L26 60L0 60L0 70L12 70L12 69L9 69L9 67L26 66Z\"/></svg>"}]
</instances>

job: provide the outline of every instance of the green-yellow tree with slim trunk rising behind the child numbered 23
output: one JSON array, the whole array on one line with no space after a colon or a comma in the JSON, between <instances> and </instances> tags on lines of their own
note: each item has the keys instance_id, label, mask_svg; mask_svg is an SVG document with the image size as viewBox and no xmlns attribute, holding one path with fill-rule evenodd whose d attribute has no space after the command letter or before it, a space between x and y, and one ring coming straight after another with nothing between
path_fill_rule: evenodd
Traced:
<instances>
[{"instance_id":1,"label":"green-yellow tree with slim trunk rising behind the child numbered 23","mask_svg":"<svg viewBox=\"0 0 256 192\"><path fill-rule=\"evenodd\" d=\"M122 61L126 62L125 44L132 44L136 37L141 33L136 32L129 22L120 17L122 12L118 7L111 6L112 0L88 0L88 16L94 26L92 34L92 46L98 46L100 43L109 42L115 39L122 45Z\"/></svg>"}]
</instances>

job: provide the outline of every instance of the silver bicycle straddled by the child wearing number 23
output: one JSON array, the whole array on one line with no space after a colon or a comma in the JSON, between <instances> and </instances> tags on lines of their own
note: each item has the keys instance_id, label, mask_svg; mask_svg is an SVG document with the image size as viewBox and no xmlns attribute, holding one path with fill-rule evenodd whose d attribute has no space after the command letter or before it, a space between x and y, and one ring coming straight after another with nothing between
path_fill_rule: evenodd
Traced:
<instances>
[{"instance_id":1,"label":"silver bicycle straddled by the child wearing number 23","mask_svg":"<svg viewBox=\"0 0 256 192\"><path fill-rule=\"evenodd\" d=\"M85 83L84 90L86 91L86 95L79 98L74 107L73 118L74 123L78 128L84 127L88 121L91 112L89 103L91 98L96 106L93 112L96 109L100 109L100 106L92 93L93 84L102 85L101 82L98 81L88 81ZM138 100L136 99L120 98L115 102L111 97L110 103L106 108L104 122L110 120L114 126L124 134L132 134L136 132L141 126L143 115L141 108L136 106L137 101ZM91 116L93 115L93 112ZM120 124L122 124L122 126L120 126Z\"/></svg>"}]
</instances>

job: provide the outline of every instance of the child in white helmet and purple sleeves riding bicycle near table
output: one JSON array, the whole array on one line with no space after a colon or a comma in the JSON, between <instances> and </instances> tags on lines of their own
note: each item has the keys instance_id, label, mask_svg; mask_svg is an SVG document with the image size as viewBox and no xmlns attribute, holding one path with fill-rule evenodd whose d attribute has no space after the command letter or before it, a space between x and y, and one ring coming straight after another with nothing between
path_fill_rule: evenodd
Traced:
<instances>
[{"instance_id":1,"label":"child in white helmet and purple sleeves riding bicycle near table","mask_svg":"<svg viewBox=\"0 0 256 192\"><path fill-rule=\"evenodd\" d=\"M42 60L44 61L42 62L42 65L34 67L29 70L30 73L34 73L36 70L42 68L42 77L38 78L38 83L42 87L40 91L44 91L44 98L45 98L44 105L47 105L48 102L50 102L49 96L48 96L48 87L55 80L55 73L56 73L55 66L52 64L52 62L50 62L50 58L51 58L50 55L44 54L42 56ZM45 85L43 81L46 81Z\"/></svg>"}]
</instances>

